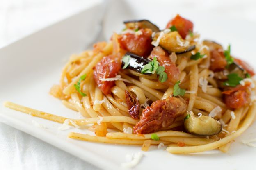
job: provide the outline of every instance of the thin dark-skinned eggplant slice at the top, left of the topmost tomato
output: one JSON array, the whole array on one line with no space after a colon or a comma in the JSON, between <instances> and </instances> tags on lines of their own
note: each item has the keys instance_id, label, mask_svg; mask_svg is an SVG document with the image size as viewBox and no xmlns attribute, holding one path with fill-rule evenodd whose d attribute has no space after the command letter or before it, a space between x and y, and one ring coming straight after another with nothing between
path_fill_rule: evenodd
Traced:
<instances>
[{"instance_id":1,"label":"thin dark-skinned eggplant slice at the top, left of the topmost tomato","mask_svg":"<svg viewBox=\"0 0 256 170\"><path fill-rule=\"evenodd\" d=\"M130 29L141 29L141 28L149 28L153 32L159 32L160 29L149 20L127 20L123 22L127 28Z\"/></svg>"}]
</instances>

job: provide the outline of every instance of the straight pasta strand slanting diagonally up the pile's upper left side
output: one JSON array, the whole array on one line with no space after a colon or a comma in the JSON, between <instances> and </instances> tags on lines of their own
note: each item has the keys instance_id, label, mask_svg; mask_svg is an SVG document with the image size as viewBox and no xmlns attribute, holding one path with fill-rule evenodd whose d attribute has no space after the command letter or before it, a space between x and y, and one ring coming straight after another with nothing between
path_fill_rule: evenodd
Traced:
<instances>
[{"instance_id":1,"label":"straight pasta strand slanting diagonally up the pile's upper left side","mask_svg":"<svg viewBox=\"0 0 256 170\"><path fill-rule=\"evenodd\" d=\"M66 88L64 88L63 93L66 95L71 94L72 91L74 90L74 84L78 82L80 77L82 75L90 73L92 71L92 68L96 65L96 63L98 63L98 61L100 61L103 58L103 56L110 54L111 51L112 51L112 43L108 43L107 46L103 49L103 52L96 55L92 59L92 61L85 67L85 69L82 70L82 72L77 77L75 77L73 81Z\"/></svg>"}]
</instances>

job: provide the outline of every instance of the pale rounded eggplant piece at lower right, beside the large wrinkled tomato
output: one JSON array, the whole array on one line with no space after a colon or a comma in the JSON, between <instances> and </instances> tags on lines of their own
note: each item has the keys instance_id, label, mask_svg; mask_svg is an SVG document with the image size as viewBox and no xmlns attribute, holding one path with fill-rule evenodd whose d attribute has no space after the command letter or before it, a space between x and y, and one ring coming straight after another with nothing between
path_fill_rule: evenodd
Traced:
<instances>
[{"instance_id":1,"label":"pale rounded eggplant piece at lower right, beside the large wrinkled tomato","mask_svg":"<svg viewBox=\"0 0 256 170\"><path fill-rule=\"evenodd\" d=\"M184 118L184 127L188 133L201 136L216 135L222 131L219 121L209 116L196 117L193 112Z\"/></svg>"}]
</instances>

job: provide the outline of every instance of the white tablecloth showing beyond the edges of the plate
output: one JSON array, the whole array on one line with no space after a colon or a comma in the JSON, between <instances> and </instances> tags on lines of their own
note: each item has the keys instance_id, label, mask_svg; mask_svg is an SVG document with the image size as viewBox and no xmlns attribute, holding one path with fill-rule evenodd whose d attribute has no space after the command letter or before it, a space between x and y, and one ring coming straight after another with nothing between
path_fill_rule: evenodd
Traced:
<instances>
[{"instance_id":1,"label":"white tablecloth showing beyond the edges of the plate","mask_svg":"<svg viewBox=\"0 0 256 170\"><path fill-rule=\"evenodd\" d=\"M0 47L82 10L87 0L0 0ZM194 9L256 23L255 0L178 0ZM227 21L228 22L228 21ZM239 23L238 23L239 24ZM98 170L81 159L0 123L0 170Z\"/></svg>"}]
</instances>

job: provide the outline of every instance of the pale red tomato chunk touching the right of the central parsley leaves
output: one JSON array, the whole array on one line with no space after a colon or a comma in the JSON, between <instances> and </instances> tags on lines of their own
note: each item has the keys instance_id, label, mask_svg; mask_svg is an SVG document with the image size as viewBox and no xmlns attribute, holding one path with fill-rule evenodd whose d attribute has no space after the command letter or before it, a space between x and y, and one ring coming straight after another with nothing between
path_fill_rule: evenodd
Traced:
<instances>
[{"instance_id":1,"label":"pale red tomato chunk touching the right of the central parsley leaves","mask_svg":"<svg viewBox=\"0 0 256 170\"><path fill-rule=\"evenodd\" d=\"M167 80L164 84L174 85L179 78L180 70L176 67L175 63L171 62L169 54L163 50L160 46L153 48L150 56L151 59L157 58L158 63L165 67L165 73L167 73Z\"/></svg>"}]
</instances>

